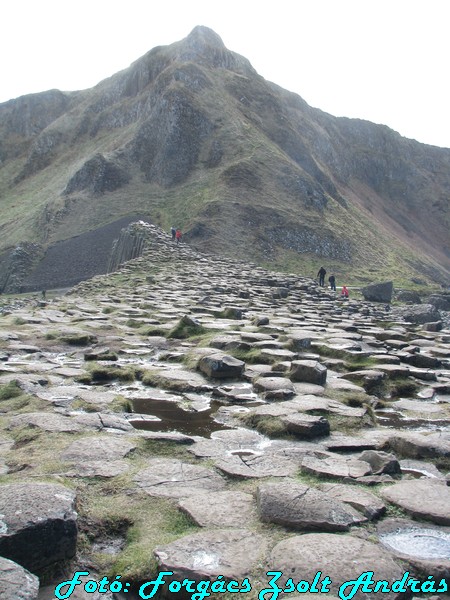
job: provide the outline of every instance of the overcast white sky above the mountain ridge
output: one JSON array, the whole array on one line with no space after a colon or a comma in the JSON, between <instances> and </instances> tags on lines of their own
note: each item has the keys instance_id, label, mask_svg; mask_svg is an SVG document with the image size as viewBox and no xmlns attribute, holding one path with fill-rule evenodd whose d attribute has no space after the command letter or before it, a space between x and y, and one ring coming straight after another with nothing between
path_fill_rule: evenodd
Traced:
<instances>
[{"instance_id":1,"label":"overcast white sky above the mountain ridge","mask_svg":"<svg viewBox=\"0 0 450 600\"><path fill-rule=\"evenodd\" d=\"M450 147L450 0L3 0L0 102L80 90L196 25L335 116Z\"/></svg>"}]
</instances>

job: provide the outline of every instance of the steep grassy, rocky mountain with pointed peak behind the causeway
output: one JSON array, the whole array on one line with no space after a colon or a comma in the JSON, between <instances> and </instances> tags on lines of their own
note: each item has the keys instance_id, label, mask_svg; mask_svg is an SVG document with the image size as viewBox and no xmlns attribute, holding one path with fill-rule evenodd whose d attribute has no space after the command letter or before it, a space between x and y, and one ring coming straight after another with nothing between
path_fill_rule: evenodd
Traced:
<instances>
[{"instance_id":1,"label":"steep grassy, rocky mountain with pointed peak behind the causeway","mask_svg":"<svg viewBox=\"0 0 450 600\"><path fill-rule=\"evenodd\" d=\"M143 213L280 268L449 277L450 150L311 108L207 28L91 90L0 105L0 139L0 251Z\"/></svg>"}]
</instances>

